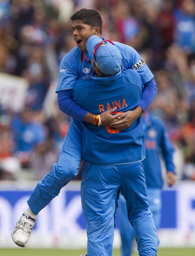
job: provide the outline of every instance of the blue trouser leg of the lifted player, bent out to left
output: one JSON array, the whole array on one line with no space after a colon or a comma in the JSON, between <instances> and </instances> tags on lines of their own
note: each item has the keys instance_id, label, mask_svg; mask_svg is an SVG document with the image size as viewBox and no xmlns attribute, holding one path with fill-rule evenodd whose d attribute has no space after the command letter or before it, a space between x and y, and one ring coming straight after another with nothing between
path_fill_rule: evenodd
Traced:
<instances>
[{"instance_id":1,"label":"blue trouser leg of the lifted player, bent out to left","mask_svg":"<svg viewBox=\"0 0 195 256\"><path fill-rule=\"evenodd\" d=\"M58 163L54 163L49 172L30 195L27 203L34 214L38 214L64 187L78 174L82 161L82 125L71 118Z\"/></svg>"}]
</instances>

